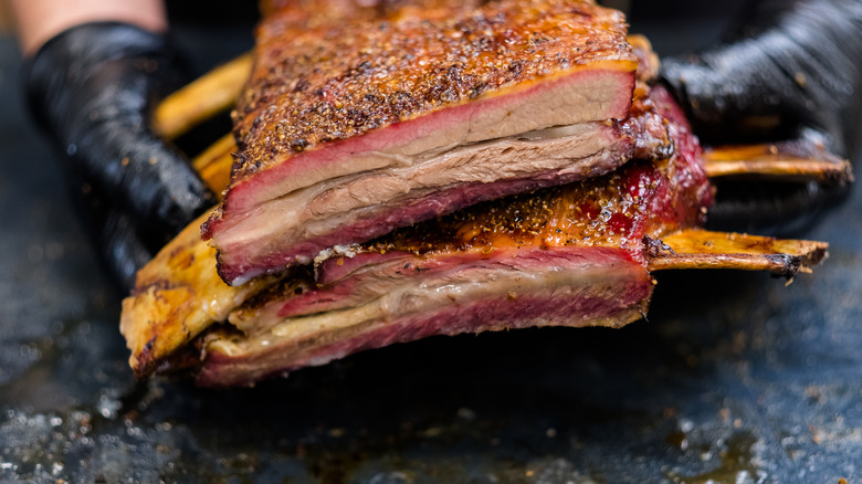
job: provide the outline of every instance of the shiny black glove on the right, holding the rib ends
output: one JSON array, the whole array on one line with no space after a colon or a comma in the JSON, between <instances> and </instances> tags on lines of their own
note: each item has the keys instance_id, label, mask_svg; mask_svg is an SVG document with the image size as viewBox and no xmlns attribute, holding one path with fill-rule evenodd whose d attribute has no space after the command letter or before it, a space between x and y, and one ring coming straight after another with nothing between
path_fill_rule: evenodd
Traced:
<instances>
[{"instance_id":1,"label":"shiny black glove on the right, holding the rib ends","mask_svg":"<svg viewBox=\"0 0 862 484\"><path fill-rule=\"evenodd\" d=\"M862 1L760 0L725 45L663 61L706 144L801 139L851 157L862 119ZM712 228L793 234L849 185L719 182Z\"/></svg>"}]
</instances>

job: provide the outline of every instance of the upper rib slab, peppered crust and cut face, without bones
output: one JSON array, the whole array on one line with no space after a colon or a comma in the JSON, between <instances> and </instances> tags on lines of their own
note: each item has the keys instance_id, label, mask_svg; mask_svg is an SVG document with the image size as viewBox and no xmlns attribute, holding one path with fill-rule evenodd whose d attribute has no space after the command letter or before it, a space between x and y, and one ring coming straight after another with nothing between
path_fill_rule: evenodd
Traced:
<instances>
[{"instance_id":1,"label":"upper rib slab, peppered crust and cut face, without bones","mask_svg":"<svg viewBox=\"0 0 862 484\"><path fill-rule=\"evenodd\" d=\"M638 57L592 1L274 2L203 225L231 285L483 200L609 172ZM656 149L666 147L655 146Z\"/></svg>"}]
</instances>

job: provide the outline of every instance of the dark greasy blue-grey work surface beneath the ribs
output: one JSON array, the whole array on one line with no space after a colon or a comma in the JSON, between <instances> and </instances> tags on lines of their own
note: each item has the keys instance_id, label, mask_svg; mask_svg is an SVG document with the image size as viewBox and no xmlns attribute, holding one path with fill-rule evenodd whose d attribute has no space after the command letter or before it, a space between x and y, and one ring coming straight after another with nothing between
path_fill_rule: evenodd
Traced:
<instances>
[{"instance_id":1,"label":"dark greasy blue-grey work surface beneath the ribs","mask_svg":"<svg viewBox=\"0 0 862 484\"><path fill-rule=\"evenodd\" d=\"M0 482L862 480L862 192L791 285L665 273L621 330L437 337L253 389L136 383L0 42Z\"/></svg>"}]
</instances>

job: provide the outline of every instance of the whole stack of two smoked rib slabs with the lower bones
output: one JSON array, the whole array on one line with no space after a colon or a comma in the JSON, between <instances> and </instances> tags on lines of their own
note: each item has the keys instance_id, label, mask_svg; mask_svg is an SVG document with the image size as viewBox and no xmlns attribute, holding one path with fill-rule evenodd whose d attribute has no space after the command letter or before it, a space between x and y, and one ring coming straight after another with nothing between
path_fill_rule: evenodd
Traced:
<instances>
[{"instance_id":1,"label":"whole stack of two smoked rib slabs with the lower bones","mask_svg":"<svg viewBox=\"0 0 862 484\"><path fill-rule=\"evenodd\" d=\"M619 327L646 312L650 271L792 276L824 256L692 230L712 202L701 149L618 14L419 3L270 4L203 224L233 285L196 227L160 251L123 303L138 377L227 387L432 335Z\"/></svg>"}]
</instances>

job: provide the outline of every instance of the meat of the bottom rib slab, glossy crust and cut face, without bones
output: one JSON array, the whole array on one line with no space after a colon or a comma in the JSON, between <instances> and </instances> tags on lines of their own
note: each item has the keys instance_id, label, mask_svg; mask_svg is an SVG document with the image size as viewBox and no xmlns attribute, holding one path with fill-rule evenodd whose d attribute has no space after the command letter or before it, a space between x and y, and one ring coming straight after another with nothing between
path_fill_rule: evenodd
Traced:
<instances>
[{"instance_id":1,"label":"meat of the bottom rib slab, glossy crust and cut face, without bones","mask_svg":"<svg viewBox=\"0 0 862 484\"><path fill-rule=\"evenodd\" d=\"M670 159L485 202L327 251L198 339L198 383L235 386L432 335L527 326L619 327L646 312L650 242L703 221L700 148L658 90Z\"/></svg>"}]
</instances>

